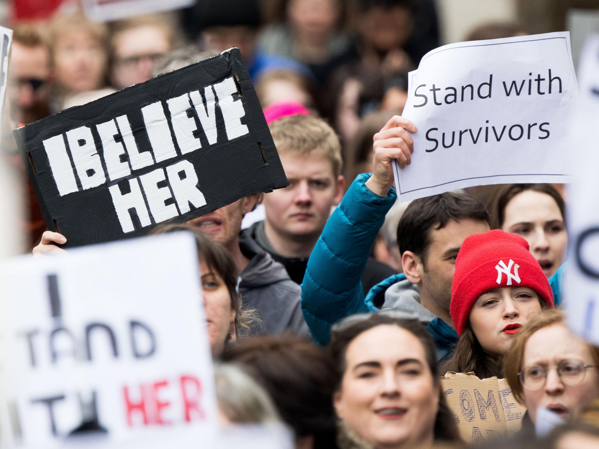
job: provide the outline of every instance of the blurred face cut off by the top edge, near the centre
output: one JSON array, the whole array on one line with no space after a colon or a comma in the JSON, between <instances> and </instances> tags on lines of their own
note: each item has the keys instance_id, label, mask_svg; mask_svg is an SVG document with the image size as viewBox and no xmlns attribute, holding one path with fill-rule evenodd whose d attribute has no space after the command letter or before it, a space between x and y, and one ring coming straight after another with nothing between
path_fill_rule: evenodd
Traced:
<instances>
[{"instance_id":1,"label":"blurred face cut off by the top edge, near the centre","mask_svg":"<svg viewBox=\"0 0 599 449\"><path fill-rule=\"evenodd\" d=\"M301 41L324 45L339 19L338 0L291 0L287 16Z\"/></svg>"}]
</instances>

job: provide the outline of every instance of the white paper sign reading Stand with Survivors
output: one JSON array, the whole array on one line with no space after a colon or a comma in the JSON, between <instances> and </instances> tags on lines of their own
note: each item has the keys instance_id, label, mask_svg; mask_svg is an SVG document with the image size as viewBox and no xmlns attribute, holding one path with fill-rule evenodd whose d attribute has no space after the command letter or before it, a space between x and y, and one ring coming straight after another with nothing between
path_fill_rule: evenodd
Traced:
<instances>
[{"instance_id":1,"label":"white paper sign reading Stand with Survivors","mask_svg":"<svg viewBox=\"0 0 599 449\"><path fill-rule=\"evenodd\" d=\"M501 183L564 183L577 97L567 32L429 51L409 74L412 164L394 163L400 201Z\"/></svg>"}]
</instances>

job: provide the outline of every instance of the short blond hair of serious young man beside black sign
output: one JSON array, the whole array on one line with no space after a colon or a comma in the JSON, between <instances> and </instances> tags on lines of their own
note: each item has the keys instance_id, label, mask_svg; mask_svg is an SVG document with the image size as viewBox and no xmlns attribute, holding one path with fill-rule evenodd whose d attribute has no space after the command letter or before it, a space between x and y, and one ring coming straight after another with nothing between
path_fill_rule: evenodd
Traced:
<instances>
[{"instance_id":1,"label":"short blond hair of serious young man beside black sign","mask_svg":"<svg viewBox=\"0 0 599 449\"><path fill-rule=\"evenodd\" d=\"M341 142L324 120L313 116L289 116L270 124L279 153L319 154L331 162L335 177L341 174Z\"/></svg>"}]
</instances>

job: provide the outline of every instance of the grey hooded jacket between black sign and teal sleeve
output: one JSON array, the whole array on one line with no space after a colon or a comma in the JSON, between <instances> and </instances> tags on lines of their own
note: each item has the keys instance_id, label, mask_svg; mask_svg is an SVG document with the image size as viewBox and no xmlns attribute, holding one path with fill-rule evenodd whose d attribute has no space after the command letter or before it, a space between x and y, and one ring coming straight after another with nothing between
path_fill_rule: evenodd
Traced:
<instances>
[{"instance_id":1,"label":"grey hooded jacket between black sign and teal sleeve","mask_svg":"<svg viewBox=\"0 0 599 449\"><path fill-rule=\"evenodd\" d=\"M289 330L310 336L299 307L301 287L289 278L285 267L273 260L249 235L239 236L239 247L250 263L240 273L239 292L244 310L256 310L262 321L253 326L252 335L280 334Z\"/></svg>"}]
</instances>

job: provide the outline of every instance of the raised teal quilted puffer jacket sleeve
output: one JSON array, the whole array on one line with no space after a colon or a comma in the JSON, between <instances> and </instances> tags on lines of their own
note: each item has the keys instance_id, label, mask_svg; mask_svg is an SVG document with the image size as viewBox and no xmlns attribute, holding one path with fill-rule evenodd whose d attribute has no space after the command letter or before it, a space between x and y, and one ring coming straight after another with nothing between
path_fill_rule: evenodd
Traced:
<instances>
[{"instance_id":1,"label":"raised teal quilted puffer jacket sleeve","mask_svg":"<svg viewBox=\"0 0 599 449\"><path fill-rule=\"evenodd\" d=\"M310 254L301 291L301 308L314 340L331 338L331 326L347 315L367 312L361 276L374 240L397 195L382 197L358 175L332 213Z\"/></svg>"}]
</instances>

